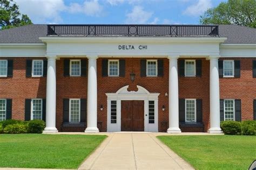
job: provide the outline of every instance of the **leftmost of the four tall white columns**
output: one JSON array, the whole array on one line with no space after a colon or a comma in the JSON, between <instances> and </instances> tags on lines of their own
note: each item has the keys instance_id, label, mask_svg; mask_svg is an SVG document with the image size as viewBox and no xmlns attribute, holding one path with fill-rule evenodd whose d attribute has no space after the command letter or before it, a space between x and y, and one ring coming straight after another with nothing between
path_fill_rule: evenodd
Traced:
<instances>
[{"instance_id":1,"label":"leftmost of the four tall white columns","mask_svg":"<svg viewBox=\"0 0 256 170\"><path fill-rule=\"evenodd\" d=\"M48 57L46 81L46 127L43 133L57 133L56 128L56 57Z\"/></svg>"}]
</instances>

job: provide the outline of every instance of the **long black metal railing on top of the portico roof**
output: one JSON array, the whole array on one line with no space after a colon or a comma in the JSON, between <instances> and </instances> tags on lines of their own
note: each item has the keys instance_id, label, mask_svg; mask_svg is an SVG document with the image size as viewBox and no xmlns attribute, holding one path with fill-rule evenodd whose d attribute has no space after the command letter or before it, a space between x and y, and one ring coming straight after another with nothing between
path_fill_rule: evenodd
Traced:
<instances>
[{"instance_id":1,"label":"long black metal railing on top of the portico roof","mask_svg":"<svg viewBox=\"0 0 256 170\"><path fill-rule=\"evenodd\" d=\"M48 25L48 36L219 36L219 26Z\"/></svg>"}]
</instances>

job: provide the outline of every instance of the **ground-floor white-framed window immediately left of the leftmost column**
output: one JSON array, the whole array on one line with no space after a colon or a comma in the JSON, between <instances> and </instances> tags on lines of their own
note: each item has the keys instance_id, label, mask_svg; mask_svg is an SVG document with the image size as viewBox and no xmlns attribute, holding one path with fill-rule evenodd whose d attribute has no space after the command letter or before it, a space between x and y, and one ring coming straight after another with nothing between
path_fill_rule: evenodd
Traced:
<instances>
[{"instance_id":1,"label":"ground-floor white-framed window immediately left of the leftmost column","mask_svg":"<svg viewBox=\"0 0 256 170\"><path fill-rule=\"evenodd\" d=\"M32 99L31 100L31 120L42 120L43 115L43 100L42 99Z\"/></svg>"}]
</instances>

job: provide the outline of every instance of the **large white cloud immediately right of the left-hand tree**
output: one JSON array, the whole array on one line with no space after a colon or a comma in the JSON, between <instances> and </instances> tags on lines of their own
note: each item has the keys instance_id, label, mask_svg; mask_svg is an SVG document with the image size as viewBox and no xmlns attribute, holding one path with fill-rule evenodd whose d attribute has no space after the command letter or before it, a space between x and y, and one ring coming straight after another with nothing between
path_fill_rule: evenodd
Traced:
<instances>
[{"instance_id":1,"label":"large white cloud immediately right of the left-hand tree","mask_svg":"<svg viewBox=\"0 0 256 170\"><path fill-rule=\"evenodd\" d=\"M29 16L34 23L62 22L59 12L66 9L63 0L15 0L19 11Z\"/></svg>"}]
</instances>

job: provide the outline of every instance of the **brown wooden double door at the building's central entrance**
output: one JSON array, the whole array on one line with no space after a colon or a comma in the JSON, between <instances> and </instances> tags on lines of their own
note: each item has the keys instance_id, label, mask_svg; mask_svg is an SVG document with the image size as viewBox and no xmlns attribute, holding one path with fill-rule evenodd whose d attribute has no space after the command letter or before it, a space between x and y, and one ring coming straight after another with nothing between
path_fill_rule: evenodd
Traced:
<instances>
[{"instance_id":1,"label":"brown wooden double door at the building's central entrance","mask_svg":"<svg viewBox=\"0 0 256 170\"><path fill-rule=\"evenodd\" d=\"M144 131L144 101L121 101L121 131Z\"/></svg>"}]
</instances>

